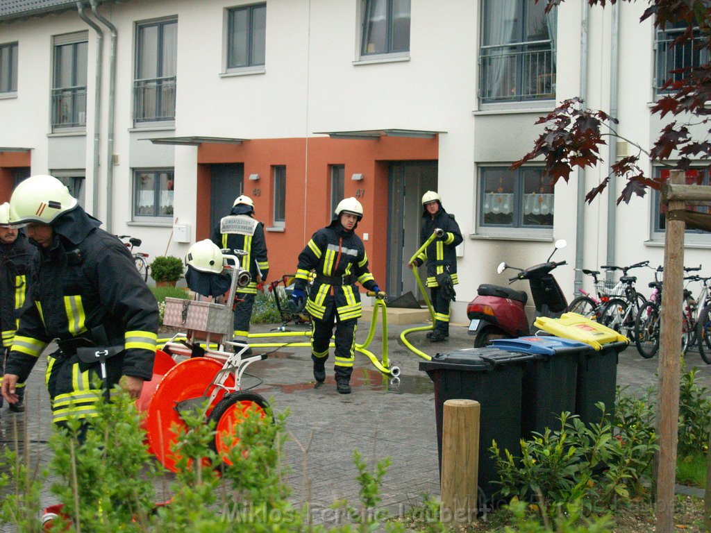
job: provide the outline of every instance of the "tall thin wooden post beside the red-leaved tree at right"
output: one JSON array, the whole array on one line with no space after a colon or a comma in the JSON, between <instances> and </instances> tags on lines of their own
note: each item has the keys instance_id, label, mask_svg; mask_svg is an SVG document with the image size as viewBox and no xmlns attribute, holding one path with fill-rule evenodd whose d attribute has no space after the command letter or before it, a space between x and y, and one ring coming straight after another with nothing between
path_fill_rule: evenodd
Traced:
<instances>
[{"instance_id":1,"label":"tall thin wooden post beside the red-leaved tree at right","mask_svg":"<svg viewBox=\"0 0 711 533\"><path fill-rule=\"evenodd\" d=\"M683 171L671 171L670 174L670 183L684 183ZM659 451L657 452L656 530L658 533L672 533L674 531L674 485L679 426L681 317L686 224L683 220L671 220L669 213L672 210L683 210L684 207L683 200L671 200L667 203L664 235L664 290L662 291L657 401Z\"/></svg>"}]
</instances>

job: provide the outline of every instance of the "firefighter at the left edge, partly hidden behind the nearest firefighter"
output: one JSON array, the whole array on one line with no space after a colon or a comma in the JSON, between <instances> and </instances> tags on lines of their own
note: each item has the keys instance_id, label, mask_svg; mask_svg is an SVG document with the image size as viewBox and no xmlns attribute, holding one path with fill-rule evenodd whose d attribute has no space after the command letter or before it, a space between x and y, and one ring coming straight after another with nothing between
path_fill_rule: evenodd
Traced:
<instances>
[{"instance_id":1,"label":"firefighter at the left edge, partly hidden behind the nearest firefighter","mask_svg":"<svg viewBox=\"0 0 711 533\"><path fill-rule=\"evenodd\" d=\"M0 205L0 328L2 347L0 348L0 372L4 373L5 360L15 338L20 311L25 303L30 281L30 263L37 249L27 236L10 225L10 204ZM2 377L0 377L0 383ZM25 384L16 387L18 402L10 404L10 411L19 413L25 410L23 397ZM0 396L0 407L3 398Z\"/></svg>"}]
</instances>

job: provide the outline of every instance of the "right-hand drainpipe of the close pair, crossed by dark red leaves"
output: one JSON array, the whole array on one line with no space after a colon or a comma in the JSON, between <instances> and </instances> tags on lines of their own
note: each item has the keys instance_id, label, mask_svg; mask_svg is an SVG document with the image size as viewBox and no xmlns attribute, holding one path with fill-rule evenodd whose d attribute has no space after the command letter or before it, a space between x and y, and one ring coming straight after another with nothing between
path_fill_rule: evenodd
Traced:
<instances>
[{"instance_id":1,"label":"right-hand drainpipe of the close pair, crossed by dark red leaves","mask_svg":"<svg viewBox=\"0 0 711 533\"><path fill-rule=\"evenodd\" d=\"M610 47L610 116L617 118L619 92L619 44L620 44L620 13L619 4L612 8L612 35ZM618 124L619 126L619 124ZM608 170L617 160L617 139L612 137L609 146ZM607 184L607 264L615 264L615 235L617 230L617 178L611 176ZM611 272L608 274L612 275Z\"/></svg>"}]
</instances>

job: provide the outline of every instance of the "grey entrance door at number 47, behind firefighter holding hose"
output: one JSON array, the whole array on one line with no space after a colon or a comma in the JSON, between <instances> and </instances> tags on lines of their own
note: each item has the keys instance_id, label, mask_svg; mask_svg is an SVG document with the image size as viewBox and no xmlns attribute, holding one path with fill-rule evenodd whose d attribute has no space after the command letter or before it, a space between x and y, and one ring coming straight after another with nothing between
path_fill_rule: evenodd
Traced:
<instances>
[{"instance_id":1,"label":"grey entrance door at number 47, behind firefighter holding hose","mask_svg":"<svg viewBox=\"0 0 711 533\"><path fill-rule=\"evenodd\" d=\"M387 292L400 296L412 291L419 300L417 281L407 267L420 246L422 195L437 190L437 161L390 163L387 220ZM426 267L420 269L424 280Z\"/></svg>"}]
</instances>

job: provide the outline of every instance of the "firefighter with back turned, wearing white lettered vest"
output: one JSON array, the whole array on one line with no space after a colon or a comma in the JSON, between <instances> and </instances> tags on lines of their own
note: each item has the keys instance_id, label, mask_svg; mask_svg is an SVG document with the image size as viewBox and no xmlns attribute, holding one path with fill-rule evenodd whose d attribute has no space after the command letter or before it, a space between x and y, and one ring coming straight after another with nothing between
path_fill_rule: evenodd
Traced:
<instances>
[{"instance_id":1,"label":"firefighter with back turned, wearing white lettered vest","mask_svg":"<svg viewBox=\"0 0 711 533\"><path fill-rule=\"evenodd\" d=\"M237 343L247 343L250 334L252 308L257 296L257 284L267 281L269 262L267 261L267 240L264 238L264 224L252 218L255 203L249 196L237 196L230 215L220 220L215 227L213 242L222 249L239 249L247 252L242 257L242 268L250 272L252 281L246 287L237 288L237 306L235 306L235 333ZM249 355L252 348L247 348L244 355Z\"/></svg>"}]
</instances>

